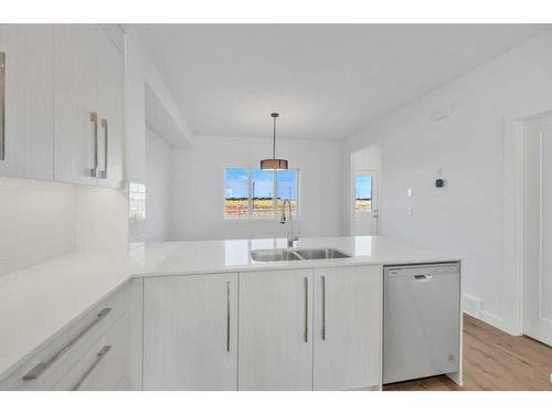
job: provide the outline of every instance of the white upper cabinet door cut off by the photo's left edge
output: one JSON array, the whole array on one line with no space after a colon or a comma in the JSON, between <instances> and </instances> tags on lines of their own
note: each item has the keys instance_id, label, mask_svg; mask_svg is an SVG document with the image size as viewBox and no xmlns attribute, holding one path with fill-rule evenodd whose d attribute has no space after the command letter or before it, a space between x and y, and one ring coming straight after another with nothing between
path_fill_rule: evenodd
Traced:
<instances>
[{"instance_id":1,"label":"white upper cabinet door cut off by the photo's left edge","mask_svg":"<svg viewBox=\"0 0 552 414\"><path fill-rule=\"evenodd\" d=\"M0 25L6 57L0 176L53 179L53 25Z\"/></svg>"}]
</instances>

